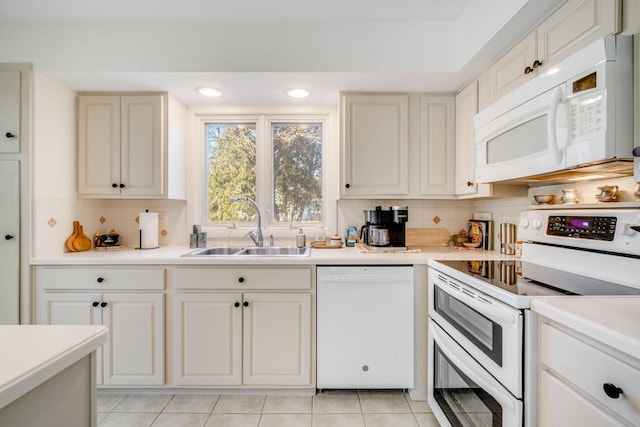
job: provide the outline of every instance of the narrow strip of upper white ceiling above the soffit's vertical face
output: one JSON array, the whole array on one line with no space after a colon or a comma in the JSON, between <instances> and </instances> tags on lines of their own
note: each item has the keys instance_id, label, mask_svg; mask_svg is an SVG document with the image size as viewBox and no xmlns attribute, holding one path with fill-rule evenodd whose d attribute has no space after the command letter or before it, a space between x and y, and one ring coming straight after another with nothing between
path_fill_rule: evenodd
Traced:
<instances>
[{"instance_id":1,"label":"narrow strip of upper white ceiling above the soffit's vertical face","mask_svg":"<svg viewBox=\"0 0 640 427\"><path fill-rule=\"evenodd\" d=\"M5 21L455 21L473 0L2 0Z\"/></svg>"}]
</instances>

